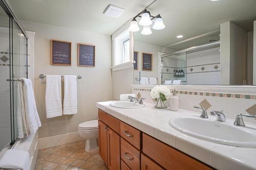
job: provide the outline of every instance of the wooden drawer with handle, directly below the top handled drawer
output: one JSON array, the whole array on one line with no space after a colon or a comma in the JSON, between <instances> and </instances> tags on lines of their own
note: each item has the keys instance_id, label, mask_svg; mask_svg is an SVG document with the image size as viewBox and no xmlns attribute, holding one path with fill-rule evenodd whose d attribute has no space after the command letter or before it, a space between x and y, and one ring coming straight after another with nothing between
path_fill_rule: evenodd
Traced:
<instances>
[{"instance_id":1,"label":"wooden drawer with handle, directly below the top handled drawer","mask_svg":"<svg viewBox=\"0 0 256 170\"><path fill-rule=\"evenodd\" d=\"M140 169L140 151L121 138L121 159L133 170Z\"/></svg>"}]
</instances>

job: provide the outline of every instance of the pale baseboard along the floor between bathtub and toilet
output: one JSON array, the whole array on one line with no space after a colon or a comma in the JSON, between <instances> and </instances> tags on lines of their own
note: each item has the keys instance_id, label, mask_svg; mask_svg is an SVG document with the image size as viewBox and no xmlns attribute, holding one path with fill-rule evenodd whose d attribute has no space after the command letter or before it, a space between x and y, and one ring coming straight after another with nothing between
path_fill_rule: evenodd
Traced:
<instances>
[{"instance_id":1,"label":"pale baseboard along the floor between bathtub and toilet","mask_svg":"<svg viewBox=\"0 0 256 170\"><path fill-rule=\"evenodd\" d=\"M78 132L43 137L43 138L39 138L39 149L56 147L57 145L72 143L80 140L84 140L84 139L81 138Z\"/></svg>"}]
</instances>

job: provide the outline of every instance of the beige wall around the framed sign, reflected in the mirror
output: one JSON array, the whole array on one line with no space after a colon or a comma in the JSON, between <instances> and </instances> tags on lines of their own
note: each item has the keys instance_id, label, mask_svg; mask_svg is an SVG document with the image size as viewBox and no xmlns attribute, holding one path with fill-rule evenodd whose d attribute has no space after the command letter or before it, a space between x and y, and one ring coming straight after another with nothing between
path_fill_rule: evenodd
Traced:
<instances>
[{"instance_id":1,"label":"beige wall around the framed sign, reflected in the mirror","mask_svg":"<svg viewBox=\"0 0 256 170\"><path fill-rule=\"evenodd\" d=\"M158 78L158 67L161 63L158 63L158 52L161 53L172 53L175 50L170 48L165 48L157 45L152 45L144 42L134 41L134 51L138 52L138 70L141 71L140 76L141 77L156 77ZM142 69L142 53L149 53L153 54L152 59L152 71L143 71ZM135 84L139 84L138 81L134 81Z\"/></svg>"}]
</instances>

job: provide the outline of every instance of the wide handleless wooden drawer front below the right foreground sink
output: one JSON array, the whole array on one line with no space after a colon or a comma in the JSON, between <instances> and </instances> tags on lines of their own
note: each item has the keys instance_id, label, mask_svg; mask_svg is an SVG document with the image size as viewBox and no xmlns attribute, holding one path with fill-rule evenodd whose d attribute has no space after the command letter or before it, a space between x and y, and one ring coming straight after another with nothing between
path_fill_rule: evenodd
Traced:
<instances>
[{"instance_id":1,"label":"wide handleless wooden drawer front below the right foreground sink","mask_svg":"<svg viewBox=\"0 0 256 170\"><path fill-rule=\"evenodd\" d=\"M142 135L142 151L165 169L213 169L144 133Z\"/></svg>"}]
</instances>

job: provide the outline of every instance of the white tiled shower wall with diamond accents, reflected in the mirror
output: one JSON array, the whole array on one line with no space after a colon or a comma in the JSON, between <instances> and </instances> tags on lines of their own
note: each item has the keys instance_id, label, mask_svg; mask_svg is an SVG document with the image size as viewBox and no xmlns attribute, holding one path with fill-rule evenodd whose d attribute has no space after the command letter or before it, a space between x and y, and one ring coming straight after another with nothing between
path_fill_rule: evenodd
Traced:
<instances>
[{"instance_id":1,"label":"white tiled shower wall with diamond accents, reflected in the mirror","mask_svg":"<svg viewBox=\"0 0 256 170\"><path fill-rule=\"evenodd\" d=\"M219 85L220 67L220 47L187 54L187 85Z\"/></svg>"}]
</instances>

